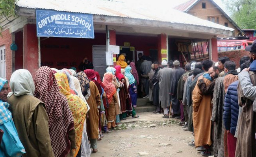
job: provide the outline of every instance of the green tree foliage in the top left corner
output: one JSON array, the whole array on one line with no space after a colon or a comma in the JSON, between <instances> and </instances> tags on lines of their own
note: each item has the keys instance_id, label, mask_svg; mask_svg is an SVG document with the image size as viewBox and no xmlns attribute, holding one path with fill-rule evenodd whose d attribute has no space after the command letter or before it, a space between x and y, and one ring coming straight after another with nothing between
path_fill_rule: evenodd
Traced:
<instances>
[{"instance_id":1,"label":"green tree foliage in the top left corner","mask_svg":"<svg viewBox=\"0 0 256 157\"><path fill-rule=\"evenodd\" d=\"M0 0L0 22L2 17L8 18L9 16L15 16L15 2L17 0ZM0 35L2 27L0 26Z\"/></svg>"}]
</instances>

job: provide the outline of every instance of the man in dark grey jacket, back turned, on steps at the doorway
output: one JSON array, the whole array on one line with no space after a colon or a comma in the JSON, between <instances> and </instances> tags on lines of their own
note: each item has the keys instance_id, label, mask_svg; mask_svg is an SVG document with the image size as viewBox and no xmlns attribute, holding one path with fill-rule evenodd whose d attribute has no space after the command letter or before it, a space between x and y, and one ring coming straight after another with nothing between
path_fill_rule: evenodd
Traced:
<instances>
[{"instance_id":1,"label":"man in dark grey jacket, back turned, on steps at the doorway","mask_svg":"<svg viewBox=\"0 0 256 157\"><path fill-rule=\"evenodd\" d=\"M141 63L141 71L142 71L142 83L145 95L148 96L149 93L149 81L148 81L148 73L150 73L152 62L147 60L145 56L143 56L143 63Z\"/></svg>"}]
</instances>

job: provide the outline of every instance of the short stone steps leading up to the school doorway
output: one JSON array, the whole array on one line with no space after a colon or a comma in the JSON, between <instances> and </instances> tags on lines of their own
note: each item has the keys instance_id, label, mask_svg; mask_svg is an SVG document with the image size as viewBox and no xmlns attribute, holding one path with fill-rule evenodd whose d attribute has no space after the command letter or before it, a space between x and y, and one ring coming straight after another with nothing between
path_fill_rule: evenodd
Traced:
<instances>
[{"instance_id":1,"label":"short stone steps leading up to the school doorway","mask_svg":"<svg viewBox=\"0 0 256 157\"><path fill-rule=\"evenodd\" d=\"M156 107L148 98L138 98L137 99L137 108L135 108L136 113L142 112L153 112L156 110Z\"/></svg>"}]
</instances>

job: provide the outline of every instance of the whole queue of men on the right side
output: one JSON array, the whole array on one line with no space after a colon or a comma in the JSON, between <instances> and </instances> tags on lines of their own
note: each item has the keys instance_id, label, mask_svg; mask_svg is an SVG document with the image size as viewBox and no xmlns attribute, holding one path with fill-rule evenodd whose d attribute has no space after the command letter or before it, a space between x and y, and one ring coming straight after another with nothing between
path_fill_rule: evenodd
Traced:
<instances>
[{"instance_id":1,"label":"whole queue of men on the right side","mask_svg":"<svg viewBox=\"0 0 256 157\"><path fill-rule=\"evenodd\" d=\"M163 60L161 69L152 65L153 113L180 119L178 125L193 132L189 145L202 156L256 156L256 41L246 51L250 56L241 58L239 69L228 57L185 69L178 60Z\"/></svg>"}]
</instances>

